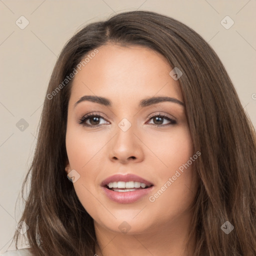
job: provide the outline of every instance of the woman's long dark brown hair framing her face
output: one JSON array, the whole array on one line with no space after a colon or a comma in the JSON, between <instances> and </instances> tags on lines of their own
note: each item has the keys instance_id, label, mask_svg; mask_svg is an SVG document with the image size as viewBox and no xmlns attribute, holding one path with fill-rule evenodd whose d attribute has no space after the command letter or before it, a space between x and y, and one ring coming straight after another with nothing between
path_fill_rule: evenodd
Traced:
<instances>
[{"instance_id":1,"label":"woman's long dark brown hair framing her face","mask_svg":"<svg viewBox=\"0 0 256 256\"><path fill-rule=\"evenodd\" d=\"M194 164L199 182L190 228L190 235L196 238L194 256L255 256L253 125L224 66L207 42L183 23L150 11L123 12L86 25L66 43L56 61L34 157L22 184L24 198L24 187L31 180L20 218L29 226L26 236L31 252L84 256L93 255L98 246L93 219L78 200L64 170L72 83L72 79L65 79L88 52L106 43L144 45L161 53L172 68L178 67L183 73L178 81L186 117L193 147L201 152ZM229 234L221 230L225 221L234 226ZM16 231L16 247L19 236Z\"/></svg>"}]
</instances>

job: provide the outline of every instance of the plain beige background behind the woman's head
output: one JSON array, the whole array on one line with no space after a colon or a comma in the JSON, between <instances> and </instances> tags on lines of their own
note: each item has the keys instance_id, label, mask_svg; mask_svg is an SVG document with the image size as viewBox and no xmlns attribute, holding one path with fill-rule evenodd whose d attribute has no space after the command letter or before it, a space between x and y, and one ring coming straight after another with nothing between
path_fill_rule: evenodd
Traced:
<instances>
[{"instance_id":1,"label":"plain beige background behind the woman's head","mask_svg":"<svg viewBox=\"0 0 256 256\"><path fill-rule=\"evenodd\" d=\"M9 246L20 216L22 204L16 212L14 206L61 48L82 25L136 9L176 18L209 42L256 126L256 0L0 0L0 252ZM29 21L24 29L15 23L25 24L21 15ZM229 29L220 23L226 15L234 21ZM28 123L23 131L16 126L21 118Z\"/></svg>"}]
</instances>

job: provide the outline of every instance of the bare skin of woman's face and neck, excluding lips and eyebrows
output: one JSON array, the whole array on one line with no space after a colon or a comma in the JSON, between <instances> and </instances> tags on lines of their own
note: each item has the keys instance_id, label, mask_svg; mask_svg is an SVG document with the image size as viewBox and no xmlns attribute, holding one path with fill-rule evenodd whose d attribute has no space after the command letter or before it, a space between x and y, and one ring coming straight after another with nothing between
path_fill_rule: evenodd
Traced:
<instances>
[{"instance_id":1,"label":"bare skin of woman's face and neck, excluding lips and eyebrows","mask_svg":"<svg viewBox=\"0 0 256 256\"><path fill-rule=\"evenodd\" d=\"M183 102L178 80L158 52L143 46L107 44L75 75L68 103L66 172L75 169L73 182L83 207L94 219L97 240L104 256L169 255L190 256L194 240L185 251L191 222L191 203L196 192L193 164L167 186L153 202L154 195L186 163L193 151L184 106L164 101L139 107L152 96L169 96ZM112 106L77 102L84 95L103 96ZM90 128L79 124L87 113L100 114L98 122L87 119ZM150 114L165 114L176 124L157 122ZM118 123L126 118L127 131ZM159 127L156 124L161 125ZM133 156L133 157L132 157ZM134 173L154 184L153 190L134 203L117 203L102 193L100 183L113 174ZM118 226L130 226L123 233ZM98 255L102 255L98 250Z\"/></svg>"}]
</instances>

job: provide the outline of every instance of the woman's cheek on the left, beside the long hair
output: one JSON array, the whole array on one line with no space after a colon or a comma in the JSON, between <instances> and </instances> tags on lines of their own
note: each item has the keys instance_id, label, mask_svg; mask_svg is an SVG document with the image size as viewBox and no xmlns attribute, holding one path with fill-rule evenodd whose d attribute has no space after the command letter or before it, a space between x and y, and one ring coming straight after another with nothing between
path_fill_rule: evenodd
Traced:
<instances>
[{"instance_id":1,"label":"woman's cheek on the left, beside the long hair","mask_svg":"<svg viewBox=\"0 0 256 256\"><path fill-rule=\"evenodd\" d=\"M109 136L104 133L85 130L82 125L67 123L65 143L70 170L75 169L79 174L79 179L73 186L86 209L95 203L92 194L96 194L96 180L102 169L102 157L106 158L106 155L102 154L108 140Z\"/></svg>"}]
</instances>

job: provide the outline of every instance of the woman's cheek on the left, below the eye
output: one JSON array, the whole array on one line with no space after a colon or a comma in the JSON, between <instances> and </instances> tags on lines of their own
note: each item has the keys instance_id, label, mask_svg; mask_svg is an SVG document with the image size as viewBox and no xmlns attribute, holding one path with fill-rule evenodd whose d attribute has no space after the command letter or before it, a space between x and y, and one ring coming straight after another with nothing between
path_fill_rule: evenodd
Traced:
<instances>
[{"instance_id":1,"label":"woman's cheek on the left, below the eye","mask_svg":"<svg viewBox=\"0 0 256 256\"><path fill-rule=\"evenodd\" d=\"M95 165L99 150L102 147L99 139L83 132L80 128L67 127L66 151L70 169L75 169L79 173L79 178L73 183L76 195L90 215L95 215L100 204L92 195L96 194L96 177L99 166Z\"/></svg>"}]
</instances>

